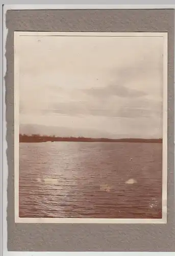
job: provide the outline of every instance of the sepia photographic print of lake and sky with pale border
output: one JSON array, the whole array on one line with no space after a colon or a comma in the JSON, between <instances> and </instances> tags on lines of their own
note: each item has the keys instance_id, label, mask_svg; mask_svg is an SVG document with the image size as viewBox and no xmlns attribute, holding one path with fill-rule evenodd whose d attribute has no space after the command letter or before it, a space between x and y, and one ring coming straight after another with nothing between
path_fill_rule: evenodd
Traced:
<instances>
[{"instance_id":1,"label":"sepia photographic print of lake and sky with pale border","mask_svg":"<svg viewBox=\"0 0 175 256\"><path fill-rule=\"evenodd\" d=\"M15 220L166 223L166 33L15 32Z\"/></svg>"}]
</instances>

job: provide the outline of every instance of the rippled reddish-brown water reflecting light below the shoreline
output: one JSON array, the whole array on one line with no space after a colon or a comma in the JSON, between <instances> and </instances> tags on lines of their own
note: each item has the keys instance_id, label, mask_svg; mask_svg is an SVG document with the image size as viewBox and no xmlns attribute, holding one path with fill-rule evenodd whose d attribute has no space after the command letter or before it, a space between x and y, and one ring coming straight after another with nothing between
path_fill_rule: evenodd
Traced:
<instances>
[{"instance_id":1,"label":"rippled reddish-brown water reflecting light below the shoreline","mask_svg":"<svg viewBox=\"0 0 175 256\"><path fill-rule=\"evenodd\" d=\"M159 143L20 143L19 176L20 217L161 218Z\"/></svg>"}]
</instances>

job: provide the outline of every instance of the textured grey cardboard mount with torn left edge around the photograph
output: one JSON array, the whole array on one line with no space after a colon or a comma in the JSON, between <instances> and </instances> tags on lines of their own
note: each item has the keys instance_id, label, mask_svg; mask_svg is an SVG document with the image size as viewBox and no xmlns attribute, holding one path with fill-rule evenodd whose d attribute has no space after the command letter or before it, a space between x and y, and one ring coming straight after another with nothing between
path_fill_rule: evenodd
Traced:
<instances>
[{"instance_id":1,"label":"textured grey cardboard mount with torn left edge around the photograph","mask_svg":"<svg viewBox=\"0 0 175 256\"><path fill-rule=\"evenodd\" d=\"M6 58L8 250L175 251L174 10L9 10ZM14 222L14 31L168 32L167 224L22 224ZM154 171L154 170L153 170Z\"/></svg>"}]
</instances>

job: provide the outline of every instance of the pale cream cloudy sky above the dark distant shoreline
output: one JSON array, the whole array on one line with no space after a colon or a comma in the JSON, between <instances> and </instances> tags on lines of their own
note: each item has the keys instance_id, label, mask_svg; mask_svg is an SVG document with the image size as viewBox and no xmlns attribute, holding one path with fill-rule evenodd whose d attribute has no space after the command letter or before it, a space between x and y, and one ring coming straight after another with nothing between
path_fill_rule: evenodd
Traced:
<instances>
[{"instance_id":1,"label":"pale cream cloudy sky above the dark distant shoreline","mask_svg":"<svg viewBox=\"0 0 175 256\"><path fill-rule=\"evenodd\" d=\"M162 137L163 38L20 38L21 133Z\"/></svg>"}]
</instances>

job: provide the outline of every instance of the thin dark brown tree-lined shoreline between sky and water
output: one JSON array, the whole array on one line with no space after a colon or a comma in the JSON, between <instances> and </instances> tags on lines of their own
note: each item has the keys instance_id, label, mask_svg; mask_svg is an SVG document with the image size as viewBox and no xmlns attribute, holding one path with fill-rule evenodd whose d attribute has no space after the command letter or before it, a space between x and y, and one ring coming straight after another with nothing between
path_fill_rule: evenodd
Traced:
<instances>
[{"instance_id":1,"label":"thin dark brown tree-lined shoreline between sky and water","mask_svg":"<svg viewBox=\"0 0 175 256\"><path fill-rule=\"evenodd\" d=\"M108 139L108 138L84 138L84 137L54 137L40 135L19 135L19 143L41 142L135 142L135 143L162 143L162 139Z\"/></svg>"}]
</instances>

